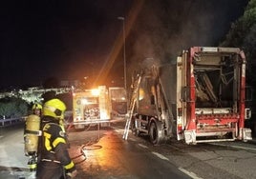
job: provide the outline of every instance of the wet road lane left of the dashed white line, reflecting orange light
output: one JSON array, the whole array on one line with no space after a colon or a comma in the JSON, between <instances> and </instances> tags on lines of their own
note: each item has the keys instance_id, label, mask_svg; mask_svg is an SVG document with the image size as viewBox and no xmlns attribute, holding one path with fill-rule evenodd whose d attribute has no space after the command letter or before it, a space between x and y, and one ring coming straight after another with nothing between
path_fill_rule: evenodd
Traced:
<instances>
[{"instance_id":1,"label":"wet road lane left of the dashed white line, reflecting orange light","mask_svg":"<svg viewBox=\"0 0 256 179\"><path fill-rule=\"evenodd\" d=\"M117 129L70 130L68 134L76 178L190 178L137 143L124 141ZM1 129L0 140L0 178L34 178L24 156L23 126Z\"/></svg>"}]
</instances>

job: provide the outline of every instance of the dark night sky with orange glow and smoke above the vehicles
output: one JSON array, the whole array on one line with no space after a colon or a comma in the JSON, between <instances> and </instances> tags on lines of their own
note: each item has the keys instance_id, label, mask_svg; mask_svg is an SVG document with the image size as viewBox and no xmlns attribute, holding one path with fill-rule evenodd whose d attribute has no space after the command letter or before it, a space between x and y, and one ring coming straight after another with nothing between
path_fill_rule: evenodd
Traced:
<instances>
[{"instance_id":1,"label":"dark night sky with orange glow and smoke above the vehicles","mask_svg":"<svg viewBox=\"0 0 256 179\"><path fill-rule=\"evenodd\" d=\"M115 56L115 49L118 55L114 64L121 71L117 39L122 39L122 22L118 16L125 17L128 70L142 58L175 55L189 46L217 45L231 22L243 14L246 3L247 0L1 1L0 88L39 85L49 77L75 80L97 74ZM199 33L204 34L203 38Z\"/></svg>"}]
</instances>

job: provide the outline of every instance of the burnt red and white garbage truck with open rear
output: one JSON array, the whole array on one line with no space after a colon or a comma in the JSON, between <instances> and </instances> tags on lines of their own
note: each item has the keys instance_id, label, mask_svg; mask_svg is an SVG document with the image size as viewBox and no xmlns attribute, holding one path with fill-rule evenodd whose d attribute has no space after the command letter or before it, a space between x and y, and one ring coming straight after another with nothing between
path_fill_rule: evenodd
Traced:
<instances>
[{"instance_id":1,"label":"burnt red and white garbage truck with open rear","mask_svg":"<svg viewBox=\"0 0 256 179\"><path fill-rule=\"evenodd\" d=\"M153 144L251 140L245 129L245 54L238 48L194 47L175 63L143 71L133 131Z\"/></svg>"}]
</instances>

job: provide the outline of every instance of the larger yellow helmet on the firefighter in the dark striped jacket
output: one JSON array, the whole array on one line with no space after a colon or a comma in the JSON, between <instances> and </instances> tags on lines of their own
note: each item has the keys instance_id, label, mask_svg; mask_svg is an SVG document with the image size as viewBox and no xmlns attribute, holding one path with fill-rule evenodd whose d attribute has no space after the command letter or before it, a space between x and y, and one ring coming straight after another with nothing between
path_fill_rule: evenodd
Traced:
<instances>
[{"instance_id":1,"label":"larger yellow helmet on the firefighter in the dark striped jacket","mask_svg":"<svg viewBox=\"0 0 256 179\"><path fill-rule=\"evenodd\" d=\"M66 105L59 99L51 99L44 104L43 115L52 116L57 119L64 119Z\"/></svg>"}]
</instances>

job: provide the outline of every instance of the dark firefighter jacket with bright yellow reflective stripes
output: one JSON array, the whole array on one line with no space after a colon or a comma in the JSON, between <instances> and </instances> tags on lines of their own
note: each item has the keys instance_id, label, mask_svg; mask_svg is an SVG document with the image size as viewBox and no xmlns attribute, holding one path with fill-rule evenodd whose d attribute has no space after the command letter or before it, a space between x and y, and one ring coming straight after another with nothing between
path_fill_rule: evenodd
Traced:
<instances>
[{"instance_id":1,"label":"dark firefighter jacket with bright yellow reflective stripes","mask_svg":"<svg viewBox=\"0 0 256 179\"><path fill-rule=\"evenodd\" d=\"M63 126L51 116L44 116L41 126L42 140L38 160L59 163L66 172L75 170L75 164L68 152L67 137Z\"/></svg>"}]
</instances>

